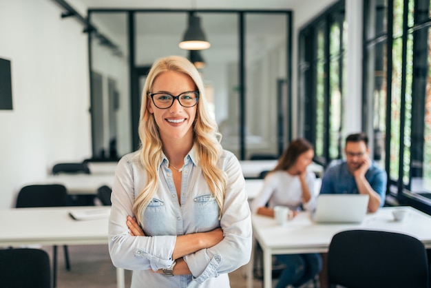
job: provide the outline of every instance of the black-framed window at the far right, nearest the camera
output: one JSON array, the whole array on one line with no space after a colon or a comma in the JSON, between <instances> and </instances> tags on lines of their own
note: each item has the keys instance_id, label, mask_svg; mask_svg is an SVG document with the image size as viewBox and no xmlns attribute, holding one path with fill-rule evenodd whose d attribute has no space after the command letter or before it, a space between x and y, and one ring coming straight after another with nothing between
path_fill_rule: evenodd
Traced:
<instances>
[{"instance_id":1,"label":"black-framed window at the far right, nearest the camera","mask_svg":"<svg viewBox=\"0 0 431 288\"><path fill-rule=\"evenodd\" d=\"M375 131L375 158L401 204L431 212L430 0L364 4L364 101L374 110L365 125Z\"/></svg>"}]
</instances>

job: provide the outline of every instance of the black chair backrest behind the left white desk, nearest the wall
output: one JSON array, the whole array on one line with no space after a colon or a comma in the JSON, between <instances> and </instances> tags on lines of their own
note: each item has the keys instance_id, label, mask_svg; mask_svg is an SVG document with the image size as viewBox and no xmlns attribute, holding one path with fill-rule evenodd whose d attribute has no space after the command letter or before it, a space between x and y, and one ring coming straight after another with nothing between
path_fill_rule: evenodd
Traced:
<instances>
[{"instance_id":1,"label":"black chair backrest behind the left white desk, nearest the wall","mask_svg":"<svg viewBox=\"0 0 431 288\"><path fill-rule=\"evenodd\" d=\"M15 207L67 206L67 190L64 185L28 185L21 188Z\"/></svg>"}]
</instances>

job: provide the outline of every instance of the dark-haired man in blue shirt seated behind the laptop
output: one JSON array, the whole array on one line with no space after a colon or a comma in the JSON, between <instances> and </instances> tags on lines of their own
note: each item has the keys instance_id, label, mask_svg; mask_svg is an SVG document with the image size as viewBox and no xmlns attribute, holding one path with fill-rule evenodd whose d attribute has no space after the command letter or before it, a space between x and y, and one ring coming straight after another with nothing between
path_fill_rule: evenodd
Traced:
<instances>
[{"instance_id":1,"label":"dark-haired man in blue shirt seated behind the laptop","mask_svg":"<svg viewBox=\"0 0 431 288\"><path fill-rule=\"evenodd\" d=\"M320 194L368 194L368 211L376 212L386 196L386 172L370 160L368 136L350 134L346 138L346 160L335 161L326 170Z\"/></svg>"}]
</instances>

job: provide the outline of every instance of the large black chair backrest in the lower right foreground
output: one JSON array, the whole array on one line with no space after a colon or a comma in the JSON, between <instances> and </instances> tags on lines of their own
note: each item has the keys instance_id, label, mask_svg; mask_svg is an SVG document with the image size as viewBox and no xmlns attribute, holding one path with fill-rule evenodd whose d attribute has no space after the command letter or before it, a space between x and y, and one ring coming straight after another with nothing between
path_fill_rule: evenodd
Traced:
<instances>
[{"instance_id":1,"label":"large black chair backrest in the lower right foreground","mask_svg":"<svg viewBox=\"0 0 431 288\"><path fill-rule=\"evenodd\" d=\"M333 236L328 282L344 287L428 287L423 243L405 234L349 230Z\"/></svg>"}]
</instances>

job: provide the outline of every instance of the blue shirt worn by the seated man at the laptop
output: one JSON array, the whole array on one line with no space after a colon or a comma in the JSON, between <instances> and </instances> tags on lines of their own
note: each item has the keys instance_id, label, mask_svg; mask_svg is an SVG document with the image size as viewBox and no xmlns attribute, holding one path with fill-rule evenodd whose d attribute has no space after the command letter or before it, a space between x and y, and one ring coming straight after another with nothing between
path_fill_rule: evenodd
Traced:
<instances>
[{"instance_id":1,"label":"blue shirt worn by the seated man at the laptop","mask_svg":"<svg viewBox=\"0 0 431 288\"><path fill-rule=\"evenodd\" d=\"M380 196L380 206L385 203L386 183L388 178L386 171L372 162L365 174L372 189ZM359 194L355 177L348 172L346 161L334 161L324 174L320 194Z\"/></svg>"}]
</instances>

